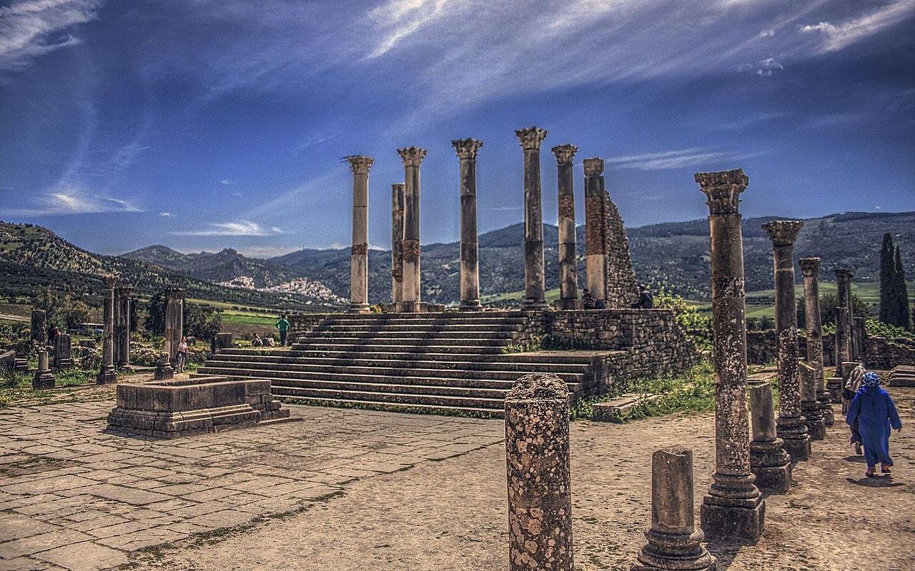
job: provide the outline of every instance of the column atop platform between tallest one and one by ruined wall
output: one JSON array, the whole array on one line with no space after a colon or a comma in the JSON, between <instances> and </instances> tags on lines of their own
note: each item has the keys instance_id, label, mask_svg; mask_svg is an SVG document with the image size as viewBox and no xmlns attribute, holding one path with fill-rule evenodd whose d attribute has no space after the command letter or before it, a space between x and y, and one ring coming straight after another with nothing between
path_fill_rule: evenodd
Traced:
<instances>
[{"instance_id":1,"label":"column atop platform between tallest one and one by ruined wall","mask_svg":"<svg viewBox=\"0 0 915 571\"><path fill-rule=\"evenodd\" d=\"M578 270L576 269L575 191L572 161L578 150L574 144L553 147L556 157L559 188L559 300L556 309L582 308L578 299Z\"/></svg>"}]
</instances>

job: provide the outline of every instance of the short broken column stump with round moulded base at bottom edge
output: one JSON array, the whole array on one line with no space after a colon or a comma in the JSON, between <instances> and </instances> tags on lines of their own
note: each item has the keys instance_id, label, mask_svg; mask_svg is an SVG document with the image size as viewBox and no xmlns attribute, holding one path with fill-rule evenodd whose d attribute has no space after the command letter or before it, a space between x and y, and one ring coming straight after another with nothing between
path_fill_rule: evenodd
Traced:
<instances>
[{"instance_id":1,"label":"short broken column stump with round moulded base at bottom edge","mask_svg":"<svg viewBox=\"0 0 915 571\"><path fill-rule=\"evenodd\" d=\"M632 571L715 571L715 557L702 545L705 534L693 515L693 450L651 454L651 528Z\"/></svg>"}]
</instances>

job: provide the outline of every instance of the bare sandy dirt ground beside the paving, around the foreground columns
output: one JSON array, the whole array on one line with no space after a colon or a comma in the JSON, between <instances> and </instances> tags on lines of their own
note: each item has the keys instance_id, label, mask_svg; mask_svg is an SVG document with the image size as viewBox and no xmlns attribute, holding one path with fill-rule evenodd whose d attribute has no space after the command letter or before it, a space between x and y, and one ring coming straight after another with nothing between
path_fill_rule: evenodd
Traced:
<instances>
[{"instance_id":1,"label":"bare sandy dirt ground beside the paving, around the foreground columns","mask_svg":"<svg viewBox=\"0 0 915 571\"><path fill-rule=\"evenodd\" d=\"M856 571L915 569L915 412L899 394L906 424L893 434L895 481L865 485L848 457L845 428L814 443L790 493L767 500L757 545L716 543L718 568ZM909 397L909 398L906 398ZM709 415L630 425L575 423L572 471L576 569L628 570L649 524L651 452L694 449L696 508L713 469ZM140 568L479 571L507 568L504 451L500 444L425 462L350 486L337 498L253 531L146 555Z\"/></svg>"}]
</instances>

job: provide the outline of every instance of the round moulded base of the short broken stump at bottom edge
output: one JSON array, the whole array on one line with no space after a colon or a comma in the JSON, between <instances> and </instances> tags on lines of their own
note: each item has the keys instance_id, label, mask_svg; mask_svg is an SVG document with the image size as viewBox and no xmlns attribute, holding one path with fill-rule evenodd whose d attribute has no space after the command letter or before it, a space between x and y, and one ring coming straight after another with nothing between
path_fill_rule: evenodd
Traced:
<instances>
[{"instance_id":1,"label":"round moulded base of the short broken stump at bottom edge","mask_svg":"<svg viewBox=\"0 0 915 571\"><path fill-rule=\"evenodd\" d=\"M648 545L641 548L638 563L631 571L715 571L716 560L702 541L705 534L661 534L651 529L645 532Z\"/></svg>"}]
</instances>

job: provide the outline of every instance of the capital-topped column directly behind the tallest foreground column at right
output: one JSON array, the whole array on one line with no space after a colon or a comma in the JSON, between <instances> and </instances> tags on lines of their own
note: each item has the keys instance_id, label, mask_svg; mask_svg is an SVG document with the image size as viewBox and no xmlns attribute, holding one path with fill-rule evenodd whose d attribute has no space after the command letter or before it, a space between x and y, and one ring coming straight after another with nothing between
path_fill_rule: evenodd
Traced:
<instances>
[{"instance_id":1,"label":"capital-topped column directly behind the tallest foreground column at right","mask_svg":"<svg viewBox=\"0 0 915 571\"><path fill-rule=\"evenodd\" d=\"M794 298L794 239L800 220L773 220L762 225L772 240L775 262L775 333L779 344L779 437L792 460L810 458L810 436L801 415L797 301Z\"/></svg>"}]
</instances>

